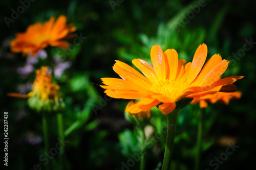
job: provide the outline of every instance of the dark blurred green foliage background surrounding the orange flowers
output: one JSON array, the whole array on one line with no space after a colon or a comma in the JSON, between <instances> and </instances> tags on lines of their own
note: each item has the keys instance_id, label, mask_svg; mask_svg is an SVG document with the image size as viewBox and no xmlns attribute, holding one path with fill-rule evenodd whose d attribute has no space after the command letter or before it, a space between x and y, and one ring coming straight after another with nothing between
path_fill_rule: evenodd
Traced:
<instances>
[{"instance_id":1,"label":"dark blurred green foliage background surrounding the orange flowers","mask_svg":"<svg viewBox=\"0 0 256 170\"><path fill-rule=\"evenodd\" d=\"M26 140L28 133L42 136L41 115L29 109L27 100L6 96L7 92L16 92L19 84L34 80L34 74L28 77L17 74L16 68L24 66L26 58L11 53L9 42L17 32L25 32L32 23L44 22L60 14L66 15L69 23L75 23L78 35L87 37L67 56L66 60L71 61L72 66L55 80L67 105L63 112L66 140L69 141L65 148L66 169L122 169L122 162L127 163L131 154L138 153L137 133L123 116L127 101L110 99L99 87L100 78L118 78L112 69L114 60L131 64L132 59L141 58L150 62L150 49L152 45L159 44L163 51L175 48L179 58L191 61L202 42L208 46L207 59L217 53L230 61L223 77L242 75L245 78L235 83L243 93L239 101L230 101L228 106L209 105L206 110L201 169L214 169L215 166L210 166L209 162L225 152L229 142L224 140L225 137L233 139L240 147L219 164L218 169L254 167L255 43L244 55L234 57L233 54L243 50L245 39L256 41L255 1L206 1L205 6L198 9L199 1L37 0L30 3L30 7L11 22L9 28L4 17L11 17L11 9L16 10L21 4L5 0L0 5L0 119L8 111L8 169L33 169L34 164L44 169L43 162L39 160L39 156L44 154L44 143L30 144ZM200 11L196 14L195 10ZM52 56L61 51L51 47L46 50L48 59L40 60L36 68L51 66ZM17 120L21 109L25 110L25 115ZM194 167L199 111L198 105L189 105L179 114L173 169ZM165 116L153 109L151 123L155 132L161 133L163 121ZM49 122L50 147L54 147L57 142L54 114L49 116ZM3 130L1 122L1 141ZM159 169L163 159L164 134L151 141L154 147L147 150L146 169ZM57 156L50 163L58 169ZM139 162L136 162L129 168L138 167Z\"/></svg>"}]
</instances>

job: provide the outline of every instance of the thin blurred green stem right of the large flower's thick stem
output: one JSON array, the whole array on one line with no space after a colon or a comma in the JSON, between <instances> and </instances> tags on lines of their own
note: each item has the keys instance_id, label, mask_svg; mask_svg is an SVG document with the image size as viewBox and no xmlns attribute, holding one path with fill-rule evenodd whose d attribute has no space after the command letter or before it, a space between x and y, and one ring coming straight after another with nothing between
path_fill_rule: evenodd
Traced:
<instances>
[{"instance_id":1,"label":"thin blurred green stem right of the large flower's thick stem","mask_svg":"<svg viewBox=\"0 0 256 170\"><path fill-rule=\"evenodd\" d=\"M198 120L195 170L199 170L199 166L200 166L200 154L201 154L201 148L202 148L201 145L202 145L202 129L203 129L204 113L205 113L205 108L202 108L202 111L199 112L199 120Z\"/></svg>"}]
</instances>

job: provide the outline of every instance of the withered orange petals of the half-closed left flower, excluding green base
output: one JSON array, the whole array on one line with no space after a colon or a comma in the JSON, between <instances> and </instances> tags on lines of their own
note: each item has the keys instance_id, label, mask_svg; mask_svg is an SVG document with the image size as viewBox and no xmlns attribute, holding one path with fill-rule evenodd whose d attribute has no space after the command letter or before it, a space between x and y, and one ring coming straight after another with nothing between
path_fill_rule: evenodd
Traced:
<instances>
[{"instance_id":1,"label":"withered orange petals of the half-closed left flower, excluding green base","mask_svg":"<svg viewBox=\"0 0 256 170\"><path fill-rule=\"evenodd\" d=\"M8 93L8 96L17 98L30 98L31 96L39 98L44 104L49 100L57 100L59 94L57 92L60 87L56 84L52 84L52 75L47 73L48 67L41 67L36 70L36 78L33 83L32 91L28 94Z\"/></svg>"}]
</instances>

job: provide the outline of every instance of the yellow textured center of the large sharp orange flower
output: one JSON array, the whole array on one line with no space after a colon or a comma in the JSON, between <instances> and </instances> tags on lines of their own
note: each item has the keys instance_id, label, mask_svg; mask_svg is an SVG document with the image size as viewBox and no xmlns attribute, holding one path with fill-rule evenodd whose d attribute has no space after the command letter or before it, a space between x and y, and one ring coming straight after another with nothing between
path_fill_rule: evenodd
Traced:
<instances>
[{"instance_id":1,"label":"yellow textured center of the large sharp orange flower","mask_svg":"<svg viewBox=\"0 0 256 170\"><path fill-rule=\"evenodd\" d=\"M166 79L155 82L152 85L152 91L176 100L188 87L190 87L190 85L187 82Z\"/></svg>"}]
</instances>

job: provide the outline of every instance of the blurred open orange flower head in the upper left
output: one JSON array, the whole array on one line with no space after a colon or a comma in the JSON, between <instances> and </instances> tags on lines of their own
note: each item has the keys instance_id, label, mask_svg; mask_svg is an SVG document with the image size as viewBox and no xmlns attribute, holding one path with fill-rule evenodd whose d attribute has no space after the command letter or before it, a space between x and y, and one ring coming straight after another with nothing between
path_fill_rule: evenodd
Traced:
<instances>
[{"instance_id":1,"label":"blurred open orange flower head in the upper left","mask_svg":"<svg viewBox=\"0 0 256 170\"><path fill-rule=\"evenodd\" d=\"M34 23L29 26L25 33L17 33L16 38L11 41L11 50L14 53L26 54L36 53L48 45L67 48L69 42L61 40L67 38L71 32L76 30L73 24L66 25L67 18L60 15L54 23L55 17L51 17L49 21L42 23Z\"/></svg>"}]
</instances>

